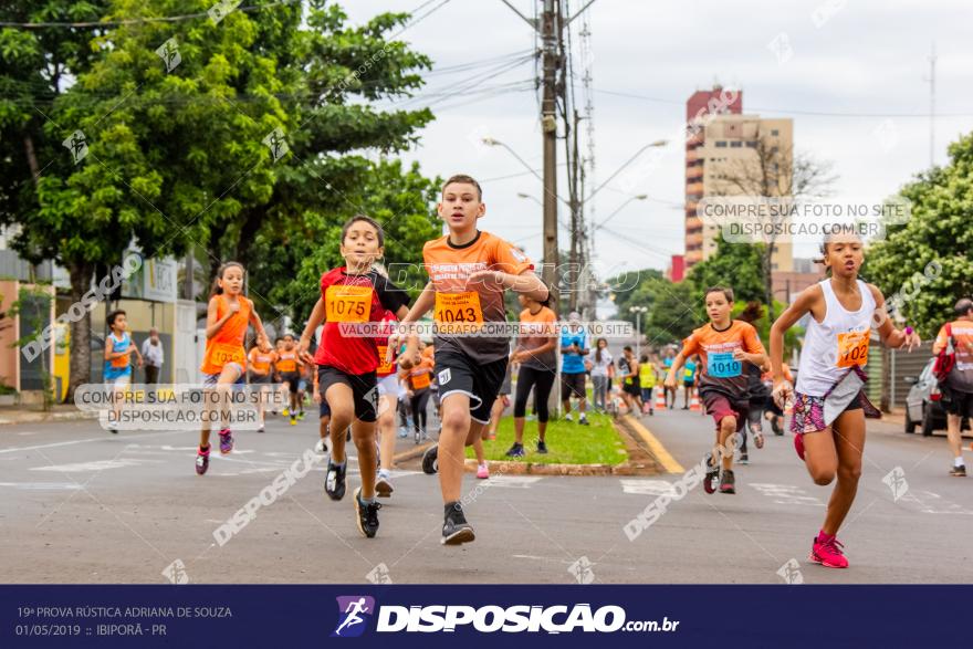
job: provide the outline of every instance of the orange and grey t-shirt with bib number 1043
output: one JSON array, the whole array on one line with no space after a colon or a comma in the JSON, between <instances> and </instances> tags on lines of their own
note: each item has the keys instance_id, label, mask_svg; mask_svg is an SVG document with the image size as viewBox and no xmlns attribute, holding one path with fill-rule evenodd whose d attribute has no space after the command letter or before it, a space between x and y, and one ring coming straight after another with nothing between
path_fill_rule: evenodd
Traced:
<instances>
[{"instance_id":1,"label":"orange and grey t-shirt with bib number 1043","mask_svg":"<svg viewBox=\"0 0 973 649\"><path fill-rule=\"evenodd\" d=\"M470 275L485 270L519 275L534 268L531 260L503 239L483 231L462 245L450 242L449 235L429 241L422 248L422 259L436 290L432 317L441 327L436 348L459 352L474 363L506 357L509 336L457 335L481 323L506 322L503 286L492 281L471 282Z\"/></svg>"}]
</instances>

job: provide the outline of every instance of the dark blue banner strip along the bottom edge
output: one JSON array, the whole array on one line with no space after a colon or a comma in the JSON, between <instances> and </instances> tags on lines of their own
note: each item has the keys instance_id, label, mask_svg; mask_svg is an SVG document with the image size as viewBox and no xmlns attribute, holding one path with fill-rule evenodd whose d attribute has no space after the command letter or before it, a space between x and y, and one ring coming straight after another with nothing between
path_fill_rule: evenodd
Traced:
<instances>
[{"instance_id":1,"label":"dark blue banner strip along the bottom edge","mask_svg":"<svg viewBox=\"0 0 973 649\"><path fill-rule=\"evenodd\" d=\"M918 647L971 586L0 586L0 647Z\"/></svg>"}]
</instances>

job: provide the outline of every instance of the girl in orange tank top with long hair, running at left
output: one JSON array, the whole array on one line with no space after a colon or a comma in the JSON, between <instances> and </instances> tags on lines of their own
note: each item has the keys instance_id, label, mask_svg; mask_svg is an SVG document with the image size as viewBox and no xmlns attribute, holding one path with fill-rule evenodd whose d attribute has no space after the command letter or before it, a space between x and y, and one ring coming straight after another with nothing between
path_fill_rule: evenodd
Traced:
<instances>
[{"instance_id":1,"label":"girl in orange tank top with long hair, running at left","mask_svg":"<svg viewBox=\"0 0 973 649\"><path fill-rule=\"evenodd\" d=\"M249 325L252 324L257 329L261 352L271 350L263 323L253 308L253 302L240 294L242 290L243 266L234 261L221 265L210 291L206 316L206 354L200 370L206 377L203 385L216 388L216 392L222 398L229 394L230 386L243 383L247 371L243 337ZM211 395L212 390L208 392ZM207 396L206 405L207 414L212 412L217 406L211 396ZM211 419L211 415L207 416L199 431L199 451L196 454L196 472L199 475L209 469ZM229 422L221 418L220 423L220 452L227 454L233 450L233 435Z\"/></svg>"}]
</instances>

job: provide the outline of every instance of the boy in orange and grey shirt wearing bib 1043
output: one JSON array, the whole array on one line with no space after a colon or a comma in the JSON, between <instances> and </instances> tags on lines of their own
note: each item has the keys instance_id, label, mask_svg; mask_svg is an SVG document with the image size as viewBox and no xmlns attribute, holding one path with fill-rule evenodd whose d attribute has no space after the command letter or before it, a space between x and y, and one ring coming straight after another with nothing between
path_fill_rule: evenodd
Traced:
<instances>
[{"instance_id":1,"label":"boy in orange and grey shirt wearing bib 1043","mask_svg":"<svg viewBox=\"0 0 973 649\"><path fill-rule=\"evenodd\" d=\"M543 302L547 287L534 275L531 261L506 241L483 232L477 222L485 213L480 184L453 176L442 187L439 216L449 234L426 243L422 257L430 282L402 318L414 323L430 308L439 327L436 335L436 378L442 407L438 461L444 520L442 541L458 545L474 540L463 515L463 447L480 438L506 373L509 336L461 335L462 327L504 323L503 293L510 289ZM450 325L453 325L452 327ZM461 325L456 327L456 325ZM402 365L418 363L418 338L409 336ZM426 459L423 459L425 461Z\"/></svg>"}]
</instances>

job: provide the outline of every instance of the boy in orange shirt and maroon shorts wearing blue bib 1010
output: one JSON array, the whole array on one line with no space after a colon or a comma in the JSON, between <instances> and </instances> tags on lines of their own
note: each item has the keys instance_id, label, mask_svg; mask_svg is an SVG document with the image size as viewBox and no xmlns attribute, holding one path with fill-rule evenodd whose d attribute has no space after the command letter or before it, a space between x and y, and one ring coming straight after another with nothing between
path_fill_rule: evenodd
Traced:
<instances>
[{"instance_id":1,"label":"boy in orange shirt and maroon shorts wearing blue bib 1010","mask_svg":"<svg viewBox=\"0 0 973 649\"><path fill-rule=\"evenodd\" d=\"M716 491L720 479L720 493L736 493L733 477L733 449L731 443L737 432L746 425L750 407L744 363L763 367L767 362L766 352L753 325L732 320L733 289L714 286L707 291L707 315L709 324L693 331L682 342L682 349L672 362L666 376L666 386L676 387L676 377L686 359L698 354L700 357L699 394L707 407L707 414L716 422L716 446L703 480L707 493ZM720 478L722 461L723 475Z\"/></svg>"}]
</instances>

